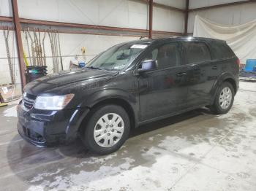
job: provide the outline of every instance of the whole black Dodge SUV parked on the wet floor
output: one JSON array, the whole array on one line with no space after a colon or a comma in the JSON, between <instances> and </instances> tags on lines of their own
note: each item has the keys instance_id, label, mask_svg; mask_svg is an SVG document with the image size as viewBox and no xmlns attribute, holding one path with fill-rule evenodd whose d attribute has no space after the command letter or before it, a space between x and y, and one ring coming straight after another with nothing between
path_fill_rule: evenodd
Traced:
<instances>
[{"instance_id":1,"label":"whole black Dodge SUV parked on the wet floor","mask_svg":"<svg viewBox=\"0 0 256 191\"><path fill-rule=\"evenodd\" d=\"M78 136L93 152L116 151L130 128L208 106L227 113L239 60L226 42L175 37L110 47L84 69L48 75L24 88L18 132L45 147Z\"/></svg>"}]
</instances>

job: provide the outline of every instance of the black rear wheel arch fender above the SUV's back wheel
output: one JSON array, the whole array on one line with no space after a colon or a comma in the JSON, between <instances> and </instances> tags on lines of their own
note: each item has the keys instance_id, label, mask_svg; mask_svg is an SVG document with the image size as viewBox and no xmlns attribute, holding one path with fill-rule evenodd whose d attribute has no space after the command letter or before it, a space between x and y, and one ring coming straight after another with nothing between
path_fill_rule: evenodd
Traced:
<instances>
[{"instance_id":1,"label":"black rear wheel arch fender above the SUV's back wheel","mask_svg":"<svg viewBox=\"0 0 256 191\"><path fill-rule=\"evenodd\" d=\"M233 81L236 83L236 87L238 87L238 82L236 77L227 71L223 72L221 75L219 75L219 77L214 82L213 87L211 88L211 104L214 104L214 100L215 100L219 85L221 85L222 82L224 82L226 79L233 79Z\"/></svg>"}]
</instances>

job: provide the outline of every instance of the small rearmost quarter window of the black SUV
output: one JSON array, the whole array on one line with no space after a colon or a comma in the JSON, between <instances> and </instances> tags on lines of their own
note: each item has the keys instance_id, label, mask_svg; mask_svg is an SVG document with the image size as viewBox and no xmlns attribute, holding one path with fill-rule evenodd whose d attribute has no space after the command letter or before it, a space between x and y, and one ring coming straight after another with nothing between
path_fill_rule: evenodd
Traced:
<instances>
[{"instance_id":1,"label":"small rearmost quarter window of the black SUV","mask_svg":"<svg viewBox=\"0 0 256 191\"><path fill-rule=\"evenodd\" d=\"M211 48L214 53L214 57L217 59L225 59L233 57L233 52L225 43L212 43Z\"/></svg>"}]
</instances>

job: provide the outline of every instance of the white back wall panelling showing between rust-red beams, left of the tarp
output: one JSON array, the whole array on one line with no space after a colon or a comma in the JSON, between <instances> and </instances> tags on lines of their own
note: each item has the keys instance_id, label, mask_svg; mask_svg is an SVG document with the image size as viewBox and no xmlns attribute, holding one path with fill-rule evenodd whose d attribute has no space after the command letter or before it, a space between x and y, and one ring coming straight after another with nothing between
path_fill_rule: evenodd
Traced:
<instances>
[{"instance_id":1,"label":"white back wall panelling showing between rust-red beams, left of the tarp","mask_svg":"<svg viewBox=\"0 0 256 191\"><path fill-rule=\"evenodd\" d=\"M184 9L185 0L154 1ZM81 23L122 28L148 29L148 6L138 1L129 0L19 0L19 15L35 20L50 20L67 23ZM173 10L154 7L153 30L184 31L184 14ZM0 16L12 16L10 0L0 0ZM1 25L1 23L0 23ZM11 32L12 34L12 32ZM23 49L28 55L25 36ZM126 42L138 37L104 36L89 34L60 34L61 54L64 55L64 69L69 68L70 60L81 55L80 48L86 47L86 60L89 61L102 50L113 44ZM10 44L15 44L10 40ZM45 39L46 56L51 56L50 42ZM13 50L11 48L11 50ZM13 50L15 51L15 49ZM11 51L11 52L13 52ZM12 55L17 57L17 55ZM4 37L0 31L0 85L10 83ZM5 59L3 59L5 58ZM18 59L14 59L18 82ZM48 70L52 71L52 58L47 58Z\"/></svg>"}]
</instances>

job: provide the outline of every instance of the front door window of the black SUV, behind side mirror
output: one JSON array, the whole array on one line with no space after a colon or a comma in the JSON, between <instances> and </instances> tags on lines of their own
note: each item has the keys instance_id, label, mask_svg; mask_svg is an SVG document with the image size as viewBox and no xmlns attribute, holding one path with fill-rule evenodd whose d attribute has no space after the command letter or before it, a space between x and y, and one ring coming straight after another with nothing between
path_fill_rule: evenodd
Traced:
<instances>
[{"instance_id":1,"label":"front door window of the black SUV, behind side mirror","mask_svg":"<svg viewBox=\"0 0 256 191\"><path fill-rule=\"evenodd\" d=\"M145 60L157 61L158 69L166 69L181 65L181 58L178 52L178 44L162 44L148 53Z\"/></svg>"}]
</instances>

